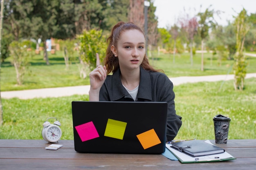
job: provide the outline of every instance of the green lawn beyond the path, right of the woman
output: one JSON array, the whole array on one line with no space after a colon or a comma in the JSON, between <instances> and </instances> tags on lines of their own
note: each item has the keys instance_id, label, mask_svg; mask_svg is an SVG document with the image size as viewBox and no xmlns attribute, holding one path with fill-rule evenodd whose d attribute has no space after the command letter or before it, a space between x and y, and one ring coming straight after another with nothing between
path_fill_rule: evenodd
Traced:
<instances>
[{"instance_id":1,"label":"green lawn beyond the path, right of the woman","mask_svg":"<svg viewBox=\"0 0 256 170\"><path fill-rule=\"evenodd\" d=\"M225 60L219 63L216 57L213 57L211 61L211 57L211 53L204 54L204 71L201 71L201 54L198 53L193 56L193 65L191 65L188 53L176 54L175 63L173 63L172 54L162 54L156 61L151 60L151 63L157 68L163 69L169 77L233 74L234 60ZM255 73L256 57L247 57L247 64L247 73Z\"/></svg>"}]
</instances>

